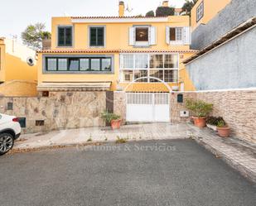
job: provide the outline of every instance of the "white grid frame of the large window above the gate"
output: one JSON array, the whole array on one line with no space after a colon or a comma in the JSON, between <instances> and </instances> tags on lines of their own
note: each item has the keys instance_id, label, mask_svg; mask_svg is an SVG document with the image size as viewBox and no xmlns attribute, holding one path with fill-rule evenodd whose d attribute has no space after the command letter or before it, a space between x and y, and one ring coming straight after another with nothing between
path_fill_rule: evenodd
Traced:
<instances>
[{"instance_id":1,"label":"white grid frame of the large window above the gate","mask_svg":"<svg viewBox=\"0 0 256 206\"><path fill-rule=\"evenodd\" d=\"M133 55L133 68L123 68L123 56L122 55ZM135 66L135 55L148 55L148 62L147 62L147 68L136 68ZM163 67L162 68L150 68L150 55L163 55ZM165 68L164 67L164 62L165 62L165 55L177 55L177 59L178 59L178 62L177 62L177 65L178 67L177 68ZM122 57L121 57L122 56ZM164 71L165 70L177 70L178 72L178 76L177 76L177 81L176 82L166 82L167 84L177 84L179 83L179 79L180 79L180 54L179 53L121 53L120 54L120 62L119 62L119 82L120 83L131 83L133 82L135 79L134 79L134 71L135 70L147 70L147 82L137 82L137 83L144 83L144 84L161 84L161 82L150 82L150 70L163 70L163 81L165 80L165 74L164 74ZM130 70L130 71L133 71L133 79L132 81L122 81L122 74L121 74L121 71L123 70ZM165 82L165 81L164 81Z\"/></svg>"}]
</instances>

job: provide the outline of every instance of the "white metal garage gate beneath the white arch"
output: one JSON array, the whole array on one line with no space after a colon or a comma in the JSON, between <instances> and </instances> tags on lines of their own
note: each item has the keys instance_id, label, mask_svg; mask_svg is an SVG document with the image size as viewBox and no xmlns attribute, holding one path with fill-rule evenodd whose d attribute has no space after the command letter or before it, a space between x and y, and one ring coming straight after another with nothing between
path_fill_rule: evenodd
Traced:
<instances>
[{"instance_id":1,"label":"white metal garage gate beneath the white arch","mask_svg":"<svg viewBox=\"0 0 256 206\"><path fill-rule=\"evenodd\" d=\"M170 122L170 93L126 93L126 121Z\"/></svg>"}]
</instances>

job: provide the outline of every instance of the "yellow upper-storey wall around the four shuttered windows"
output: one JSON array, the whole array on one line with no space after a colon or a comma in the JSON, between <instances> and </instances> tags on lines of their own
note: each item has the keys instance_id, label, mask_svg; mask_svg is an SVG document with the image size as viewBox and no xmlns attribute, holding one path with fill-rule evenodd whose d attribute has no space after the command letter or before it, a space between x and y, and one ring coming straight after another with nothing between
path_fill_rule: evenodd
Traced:
<instances>
[{"instance_id":1,"label":"yellow upper-storey wall around the four shuttered windows","mask_svg":"<svg viewBox=\"0 0 256 206\"><path fill-rule=\"evenodd\" d=\"M132 50L129 46L129 27L133 25L151 25L157 27L157 45L150 46L152 50L189 50L189 46L169 46L166 43L166 26L190 26L188 16L171 16L168 22L131 22L131 23L75 23L75 44L73 47L57 47L57 27L72 25L70 17L53 17L51 23L51 49L52 50L88 50L89 34L88 26L106 26L106 46L103 50ZM96 49L97 50L97 49ZM145 48L136 48L136 50L145 50Z\"/></svg>"}]
</instances>

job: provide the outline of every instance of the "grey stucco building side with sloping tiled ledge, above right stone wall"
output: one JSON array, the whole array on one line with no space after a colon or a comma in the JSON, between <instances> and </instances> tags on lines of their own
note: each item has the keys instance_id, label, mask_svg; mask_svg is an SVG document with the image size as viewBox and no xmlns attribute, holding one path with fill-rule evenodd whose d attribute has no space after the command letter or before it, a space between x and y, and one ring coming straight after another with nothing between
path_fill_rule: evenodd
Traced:
<instances>
[{"instance_id":1,"label":"grey stucco building side with sloping tiled ledge, above right stone wall","mask_svg":"<svg viewBox=\"0 0 256 206\"><path fill-rule=\"evenodd\" d=\"M193 31L192 45L200 51L184 63L196 90L256 87L255 8L254 0L233 0Z\"/></svg>"}]
</instances>

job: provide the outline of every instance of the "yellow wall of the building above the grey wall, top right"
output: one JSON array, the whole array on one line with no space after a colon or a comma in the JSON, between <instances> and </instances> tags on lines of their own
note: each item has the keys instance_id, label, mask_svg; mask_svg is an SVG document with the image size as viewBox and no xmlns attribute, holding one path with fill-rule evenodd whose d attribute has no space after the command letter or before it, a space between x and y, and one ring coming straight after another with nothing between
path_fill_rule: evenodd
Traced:
<instances>
[{"instance_id":1,"label":"yellow wall of the building above the grey wall, top right","mask_svg":"<svg viewBox=\"0 0 256 206\"><path fill-rule=\"evenodd\" d=\"M196 22L196 8L200 5L201 2L204 2L204 16L200 19L199 22ZM191 27L192 30L195 30L200 24L206 24L209 22L215 15L220 12L231 0L198 0L196 5L191 10Z\"/></svg>"}]
</instances>

